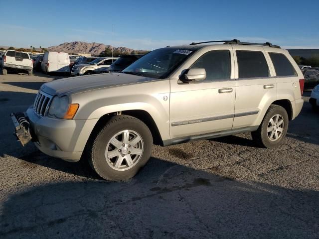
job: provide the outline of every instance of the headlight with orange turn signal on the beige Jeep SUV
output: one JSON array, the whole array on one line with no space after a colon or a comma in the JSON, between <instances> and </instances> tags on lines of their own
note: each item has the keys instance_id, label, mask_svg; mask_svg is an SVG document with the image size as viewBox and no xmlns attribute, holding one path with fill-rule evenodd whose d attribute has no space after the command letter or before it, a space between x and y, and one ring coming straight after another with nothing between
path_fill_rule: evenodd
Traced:
<instances>
[{"instance_id":1,"label":"headlight with orange turn signal on the beige Jeep SUV","mask_svg":"<svg viewBox=\"0 0 319 239\"><path fill-rule=\"evenodd\" d=\"M79 104L69 104L69 98L67 96L55 96L50 105L48 116L60 119L73 119L78 108Z\"/></svg>"}]
</instances>

